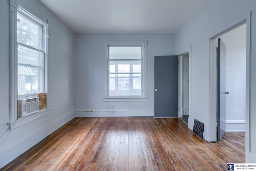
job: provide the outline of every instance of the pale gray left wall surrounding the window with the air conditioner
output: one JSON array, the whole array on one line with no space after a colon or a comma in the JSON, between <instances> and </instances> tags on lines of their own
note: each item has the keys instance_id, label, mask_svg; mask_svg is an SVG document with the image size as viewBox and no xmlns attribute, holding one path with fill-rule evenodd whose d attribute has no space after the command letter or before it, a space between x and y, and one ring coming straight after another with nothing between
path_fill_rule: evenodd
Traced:
<instances>
[{"instance_id":1,"label":"pale gray left wall surrounding the window with the air conditioner","mask_svg":"<svg viewBox=\"0 0 256 171\"><path fill-rule=\"evenodd\" d=\"M12 130L0 147L0 168L75 116L75 34L37 0L22 0L51 24L50 113ZM0 144L9 131L9 0L0 1Z\"/></svg>"}]
</instances>

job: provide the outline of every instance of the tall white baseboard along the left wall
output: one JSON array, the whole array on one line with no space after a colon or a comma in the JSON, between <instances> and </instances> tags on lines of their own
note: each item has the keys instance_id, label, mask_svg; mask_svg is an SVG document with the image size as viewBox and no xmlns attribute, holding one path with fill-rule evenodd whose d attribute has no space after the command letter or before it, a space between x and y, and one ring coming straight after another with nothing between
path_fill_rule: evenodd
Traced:
<instances>
[{"instance_id":1,"label":"tall white baseboard along the left wall","mask_svg":"<svg viewBox=\"0 0 256 171\"><path fill-rule=\"evenodd\" d=\"M24 137L16 139L12 143L2 147L0 149L0 168L4 167L10 161L33 147L36 143L40 142L74 117L75 110L70 111L55 121L52 121L51 123L44 125L43 127L28 133Z\"/></svg>"}]
</instances>

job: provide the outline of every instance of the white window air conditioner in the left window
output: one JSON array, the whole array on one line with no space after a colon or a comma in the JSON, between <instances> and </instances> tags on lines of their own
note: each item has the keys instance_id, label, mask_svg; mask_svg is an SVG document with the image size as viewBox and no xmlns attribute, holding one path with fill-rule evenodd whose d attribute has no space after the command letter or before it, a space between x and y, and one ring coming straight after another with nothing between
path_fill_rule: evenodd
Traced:
<instances>
[{"instance_id":1,"label":"white window air conditioner in the left window","mask_svg":"<svg viewBox=\"0 0 256 171\"><path fill-rule=\"evenodd\" d=\"M39 97L19 100L19 117L24 117L39 111Z\"/></svg>"}]
</instances>

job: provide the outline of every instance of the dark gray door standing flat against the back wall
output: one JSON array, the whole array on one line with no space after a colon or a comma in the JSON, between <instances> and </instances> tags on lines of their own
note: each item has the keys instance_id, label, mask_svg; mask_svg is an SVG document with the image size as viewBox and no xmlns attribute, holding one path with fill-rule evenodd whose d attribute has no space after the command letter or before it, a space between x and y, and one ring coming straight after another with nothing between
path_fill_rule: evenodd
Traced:
<instances>
[{"instance_id":1,"label":"dark gray door standing flat against the back wall","mask_svg":"<svg viewBox=\"0 0 256 171\"><path fill-rule=\"evenodd\" d=\"M178 56L155 56L155 117L178 117Z\"/></svg>"}]
</instances>

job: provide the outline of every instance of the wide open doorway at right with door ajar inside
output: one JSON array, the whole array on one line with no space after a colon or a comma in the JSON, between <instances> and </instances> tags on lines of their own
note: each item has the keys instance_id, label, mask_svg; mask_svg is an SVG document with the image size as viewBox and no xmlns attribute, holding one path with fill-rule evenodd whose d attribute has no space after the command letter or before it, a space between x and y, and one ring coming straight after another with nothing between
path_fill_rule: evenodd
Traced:
<instances>
[{"instance_id":1,"label":"wide open doorway at right with door ajar inside","mask_svg":"<svg viewBox=\"0 0 256 171\"><path fill-rule=\"evenodd\" d=\"M218 47L216 48L216 140L220 141L226 131L245 131L246 23L216 36L213 43L214 47ZM218 55L223 53L219 46L222 49L225 47L226 52L222 56ZM223 58L226 58L222 63L224 65L220 62ZM220 78L224 75L223 81Z\"/></svg>"}]
</instances>

